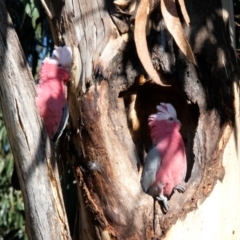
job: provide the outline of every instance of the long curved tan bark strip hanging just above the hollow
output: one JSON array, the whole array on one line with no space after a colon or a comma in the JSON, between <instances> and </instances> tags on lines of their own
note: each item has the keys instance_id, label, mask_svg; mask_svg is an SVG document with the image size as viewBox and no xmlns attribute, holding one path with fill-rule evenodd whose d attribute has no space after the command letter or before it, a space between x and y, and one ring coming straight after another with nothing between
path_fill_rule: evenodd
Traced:
<instances>
[{"instance_id":1,"label":"long curved tan bark strip hanging just above the hollow","mask_svg":"<svg viewBox=\"0 0 240 240\"><path fill-rule=\"evenodd\" d=\"M148 17L148 8L149 1L141 0L137 9L134 27L134 39L137 53L143 67L145 68L151 79L155 83L167 87L169 85L166 85L161 81L157 71L154 69L147 47L146 22Z\"/></svg>"}]
</instances>

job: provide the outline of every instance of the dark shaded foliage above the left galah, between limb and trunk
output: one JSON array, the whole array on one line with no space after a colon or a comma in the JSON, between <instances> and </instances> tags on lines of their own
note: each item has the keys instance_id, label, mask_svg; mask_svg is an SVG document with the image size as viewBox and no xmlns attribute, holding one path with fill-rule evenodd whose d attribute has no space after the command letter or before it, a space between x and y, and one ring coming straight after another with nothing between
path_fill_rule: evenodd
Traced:
<instances>
[{"instance_id":1,"label":"dark shaded foliage above the left galah, between limb and trunk","mask_svg":"<svg viewBox=\"0 0 240 240\"><path fill-rule=\"evenodd\" d=\"M38 0L5 0L33 76L37 79L41 61L53 50L44 9Z\"/></svg>"}]
</instances>

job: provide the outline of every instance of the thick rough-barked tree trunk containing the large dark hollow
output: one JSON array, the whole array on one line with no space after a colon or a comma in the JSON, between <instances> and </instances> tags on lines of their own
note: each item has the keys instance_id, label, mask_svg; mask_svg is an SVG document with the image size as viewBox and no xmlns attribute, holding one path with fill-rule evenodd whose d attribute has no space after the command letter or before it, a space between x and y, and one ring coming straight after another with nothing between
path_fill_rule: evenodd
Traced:
<instances>
[{"instance_id":1,"label":"thick rough-barked tree trunk containing the large dark hollow","mask_svg":"<svg viewBox=\"0 0 240 240\"><path fill-rule=\"evenodd\" d=\"M70 121L59 145L78 185L74 239L239 239L239 92L221 2L186 0L189 26L178 4L170 14L184 26L190 60L167 30L159 1L151 4L148 49L171 87L149 80L138 58L135 42L144 42L145 33L133 38L135 1L125 9L101 0L46 3L55 44L74 53ZM188 161L186 192L171 196L166 214L140 186L152 145L147 118L159 102L177 110ZM28 184L21 181L22 188Z\"/></svg>"}]
</instances>

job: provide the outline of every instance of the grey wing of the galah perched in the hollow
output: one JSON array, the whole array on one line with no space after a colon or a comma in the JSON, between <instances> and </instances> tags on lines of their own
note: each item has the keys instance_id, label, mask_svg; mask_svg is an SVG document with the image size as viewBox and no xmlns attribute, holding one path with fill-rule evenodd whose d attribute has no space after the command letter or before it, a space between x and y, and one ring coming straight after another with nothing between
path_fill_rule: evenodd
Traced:
<instances>
[{"instance_id":1,"label":"grey wing of the galah perched in the hollow","mask_svg":"<svg viewBox=\"0 0 240 240\"><path fill-rule=\"evenodd\" d=\"M147 154L141 176L141 186L144 192L147 192L156 178L157 170L161 163L161 157L156 145L153 146Z\"/></svg>"}]
</instances>

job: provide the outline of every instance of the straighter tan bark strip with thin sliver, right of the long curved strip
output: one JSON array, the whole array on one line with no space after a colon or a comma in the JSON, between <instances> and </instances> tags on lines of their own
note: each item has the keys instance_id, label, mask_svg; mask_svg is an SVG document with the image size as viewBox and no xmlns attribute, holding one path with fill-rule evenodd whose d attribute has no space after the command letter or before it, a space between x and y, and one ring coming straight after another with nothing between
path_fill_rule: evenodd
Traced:
<instances>
[{"instance_id":1,"label":"straighter tan bark strip with thin sliver, right of the long curved strip","mask_svg":"<svg viewBox=\"0 0 240 240\"><path fill-rule=\"evenodd\" d=\"M179 2L180 4L180 2ZM181 6L181 5L180 5ZM185 8L182 8L183 16L186 22L186 12L183 10ZM186 9L185 9L186 10ZM180 48L180 50L183 52L183 54L194 64L196 64L192 49L189 45L189 42L184 34L184 30L182 28L182 24L178 17L178 12L175 4L175 0L161 0L161 11L162 15L165 21L165 24L167 26L168 31L173 36L176 44Z\"/></svg>"}]
</instances>

